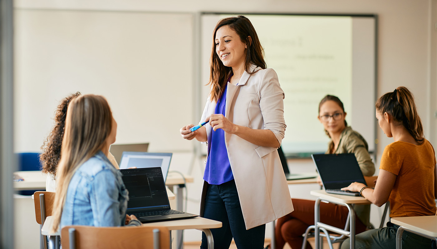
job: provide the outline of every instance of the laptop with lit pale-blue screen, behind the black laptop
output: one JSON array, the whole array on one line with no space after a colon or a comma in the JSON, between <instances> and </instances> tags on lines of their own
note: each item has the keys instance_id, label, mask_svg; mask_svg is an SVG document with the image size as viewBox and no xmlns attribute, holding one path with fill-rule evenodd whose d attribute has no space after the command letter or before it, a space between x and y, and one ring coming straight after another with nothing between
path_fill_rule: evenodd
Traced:
<instances>
[{"instance_id":1,"label":"laptop with lit pale-blue screen, behind the black laptop","mask_svg":"<svg viewBox=\"0 0 437 249\"><path fill-rule=\"evenodd\" d=\"M165 182L167 179L168 168L170 167L171 156L172 153L124 151L121 156L119 167L120 169L127 169L130 167L161 167Z\"/></svg>"}]
</instances>

